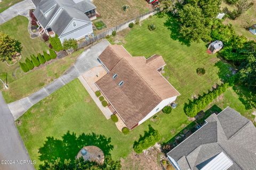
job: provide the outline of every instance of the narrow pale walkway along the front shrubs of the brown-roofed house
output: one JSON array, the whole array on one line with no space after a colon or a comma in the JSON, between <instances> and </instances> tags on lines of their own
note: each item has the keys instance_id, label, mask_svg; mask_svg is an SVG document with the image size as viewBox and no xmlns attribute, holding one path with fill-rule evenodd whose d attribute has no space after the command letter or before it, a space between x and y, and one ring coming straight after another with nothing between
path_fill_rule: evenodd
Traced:
<instances>
[{"instance_id":1,"label":"narrow pale walkway along the front shrubs of the brown-roofed house","mask_svg":"<svg viewBox=\"0 0 256 170\"><path fill-rule=\"evenodd\" d=\"M109 108L102 106L100 99L94 94L94 91L90 88L89 84L84 80L82 75L79 76L78 79L83 84L84 88L89 93L91 98L94 100L95 104L99 107L99 109L103 113L103 115L107 118L107 120L109 120L109 118L111 118L111 115L112 115Z\"/></svg>"}]
</instances>

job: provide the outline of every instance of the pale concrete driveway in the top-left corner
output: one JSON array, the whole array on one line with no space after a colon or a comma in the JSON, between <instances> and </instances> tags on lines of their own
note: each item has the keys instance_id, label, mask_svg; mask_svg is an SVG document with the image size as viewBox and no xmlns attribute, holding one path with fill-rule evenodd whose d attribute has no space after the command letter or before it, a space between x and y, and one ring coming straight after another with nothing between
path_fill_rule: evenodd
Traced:
<instances>
[{"instance_id":1,"label":"pale concrete driveway in the top-left corner","mask_svg":"<svg viewBox=\"0 0 256 170\"><path fill-rule=\"evenodd\" d=\"M18 15L24 15L25 13L28 13L30 9L35 9L35 5L31 0L24 0L12 5L7 10L0 13L0 25Z\"/></svg>"}]
</instances>

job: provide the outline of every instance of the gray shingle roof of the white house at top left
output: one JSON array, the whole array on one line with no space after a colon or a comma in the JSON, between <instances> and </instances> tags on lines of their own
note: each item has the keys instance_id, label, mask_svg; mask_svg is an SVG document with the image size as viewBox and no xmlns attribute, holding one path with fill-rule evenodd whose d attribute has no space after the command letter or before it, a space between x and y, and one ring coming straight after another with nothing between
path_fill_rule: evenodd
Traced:
<instances>
[{"instance_id":1,"label":"gray shingle roof of the white house at top left","mask_svg":"<svg viewBox=\"0 0 256 170\"><path fill-rule=\"evenodd\" d=\"M84 14L84 12L96 8L88 0L84 0L77 4L72 0L33 0L33 2L36 5L34 15L36 16L39 23L41 23L45 29L51 27L52 30L59 36L63 33L68 24L73 19L87 21L91 23L91 20L87 17L86 14ZM50 9L50 13L45 16L44 13L49 11ZM51 25L49 25L53 16L59 10L60 13L58 14L57 18L54 20L53 23L51 23Z\"/></svg>"}]
</instances>

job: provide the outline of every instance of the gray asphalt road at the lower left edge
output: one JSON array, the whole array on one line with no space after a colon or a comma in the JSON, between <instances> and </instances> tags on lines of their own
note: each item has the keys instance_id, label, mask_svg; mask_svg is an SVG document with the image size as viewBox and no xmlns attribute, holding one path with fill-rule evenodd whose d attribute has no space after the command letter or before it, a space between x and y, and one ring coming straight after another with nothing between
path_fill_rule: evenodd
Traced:
<instances>
[{"instance_id":1,"label":"gray asphalt road at the lower left edge","mask_svg":"<svg viewBox=\"0 0 256 170\"><path fill-rule=\"evenodd\" d=\"M0 160L30 160L23 145L18 130L14 124L12 114L0 92ZM31 161L31 160L30 160ZM16 163L16 162L15 162ZM2 165L1 170L32 170L34 165Z\"/></svg>"}]
</instances>

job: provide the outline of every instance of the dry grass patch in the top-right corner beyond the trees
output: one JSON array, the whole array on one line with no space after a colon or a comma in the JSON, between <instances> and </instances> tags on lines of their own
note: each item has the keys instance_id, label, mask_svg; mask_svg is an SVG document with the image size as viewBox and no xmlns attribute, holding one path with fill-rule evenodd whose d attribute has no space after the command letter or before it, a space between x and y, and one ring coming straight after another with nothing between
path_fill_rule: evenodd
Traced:
<instances>
[{"instance_id":1,"label":"dry grass patch in the top-right corner beyond the trees","mask_svg":"<svg viewBox=\"0 0 256 170\"><path fill-rule=\"evenodd\" d=\"M239 16L236 20L230 20L227 18L225 22L232 24L238 35L243 35L250 40L256 40L256 35L253 35L246 29L246 27L248 27L249 25L251 26L253 24L256 24L256 0L252 0L252 2L254 3L254 5L244 14ZM234 9L234 6L227 5L223 2L221 6L222 8L227 7L230 11Z\"/></svg>"}]
</instances>

